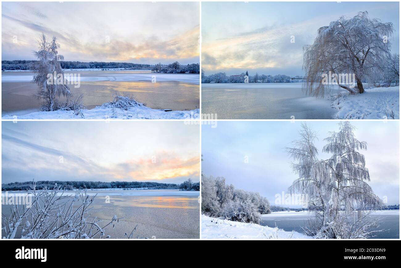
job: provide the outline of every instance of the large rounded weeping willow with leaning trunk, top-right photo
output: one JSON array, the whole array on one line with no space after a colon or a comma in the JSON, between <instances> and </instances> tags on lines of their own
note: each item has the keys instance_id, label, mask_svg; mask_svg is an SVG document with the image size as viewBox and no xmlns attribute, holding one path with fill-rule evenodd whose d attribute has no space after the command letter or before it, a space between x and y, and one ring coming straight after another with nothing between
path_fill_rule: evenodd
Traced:
<instances>
[{"instance_id":1,"label":"large rounded weeping willow with leaning trunk, top-right photo","mask_svg":"<svg viewBox=\"0 0 401 268\"><path fill-rule=\"evenodd\" d=\"M314 43L303 48L306 78L303 90L309 95L324 97L331 85L322 83L322 78L332 74L328 79L349 93L364 93L363 79L385 67L393 32L391 22L371 19L367 11L353 18L341 16L329 26L320 27Z\"/></svg>"}]
</instances>

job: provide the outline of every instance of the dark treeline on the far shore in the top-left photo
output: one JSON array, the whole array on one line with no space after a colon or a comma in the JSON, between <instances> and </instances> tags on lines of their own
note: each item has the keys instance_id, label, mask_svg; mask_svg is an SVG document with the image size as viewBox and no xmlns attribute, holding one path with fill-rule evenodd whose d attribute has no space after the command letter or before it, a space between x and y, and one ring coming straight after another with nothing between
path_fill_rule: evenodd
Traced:
<instances>
[{"instance_id":1,"label":"dark treeline on the far shore in the top-left photo","mask_svg":"<svg viewBox=\"0 0 401 268\"><path fill-rule=\"evenodd\" d=\"M2 71L29 70L32 63L37 60L2 60ZM130 62L81 62L60 61L62 69L126 69L126 70L152 70L159 73L199 73L199 63L182 65L178 62L171 64L139 64Z\"/></svg>"}]
</instances>

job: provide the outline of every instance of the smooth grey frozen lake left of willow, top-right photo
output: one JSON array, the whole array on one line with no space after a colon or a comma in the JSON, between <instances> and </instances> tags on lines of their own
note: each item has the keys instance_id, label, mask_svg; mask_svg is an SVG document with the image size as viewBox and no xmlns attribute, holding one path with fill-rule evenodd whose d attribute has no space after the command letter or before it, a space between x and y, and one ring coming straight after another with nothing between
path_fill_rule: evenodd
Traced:
<instances>
[{"instance_id":1,"label":"smooth grey frozen lake left of willow, top-right photo","mask_svg":"<svg viewBox=\"0 0 401 268\"><path fill-rule=\"evenodd\" d=\"M332 119L330 106L306 96L302 83L202 84L202 113L217 119Z\"/></svg>"}]
</instances>

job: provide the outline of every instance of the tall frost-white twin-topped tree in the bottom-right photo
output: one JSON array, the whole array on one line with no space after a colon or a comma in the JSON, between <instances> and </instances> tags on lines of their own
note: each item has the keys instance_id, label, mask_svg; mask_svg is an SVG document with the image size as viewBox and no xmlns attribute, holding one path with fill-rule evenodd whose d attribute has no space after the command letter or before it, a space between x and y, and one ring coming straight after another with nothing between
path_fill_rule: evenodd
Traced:
<instances>
[{"instance_id":1,"label":"tall frost-white twin-topped tree in the bottom-right photo","mask_svg":"<svg viewBox=\"0 0 401 268\"><path fill-rule=\"evenodd\" d=\"M354 136L354 127L340 122L338 132L330 132L324 139L323 152L329 159L318 160L314 145L316 133L302 124L300 139L286 148L294 159L292 169L298 174L290 193L308 196L308 208L314 217L304 228L306 234L316 238L367 238L379 226L369 216L371 210L383 208L382 200L373 193L367 182L369 170L365 157L359 153L367 144Z\"/></svg>"}]
</instances>

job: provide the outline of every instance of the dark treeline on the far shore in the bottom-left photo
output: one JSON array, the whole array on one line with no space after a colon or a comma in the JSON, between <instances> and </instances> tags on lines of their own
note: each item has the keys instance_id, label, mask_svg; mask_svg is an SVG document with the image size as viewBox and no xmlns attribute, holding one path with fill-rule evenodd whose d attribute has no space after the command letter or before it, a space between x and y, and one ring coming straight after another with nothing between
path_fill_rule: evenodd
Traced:
<instances>
[{"instance_id":1,"label":"dark treeline on the far shore in the bottom-left photo","mask_svg":"<svg viewBox=\"0 0 401 268\"><path fill-rule=\"evenodd\" d=\"M36 181L36 188L53 188L55 185L66 190L74 189L127 189L127 188L148 188L148 189L182 189L199 191L199 182L194 183L191 179L181 184L159 183L153 181ZM2 183L2 191L26 191L32 186L32 181Z\"/></svg>"}]
</instances>

